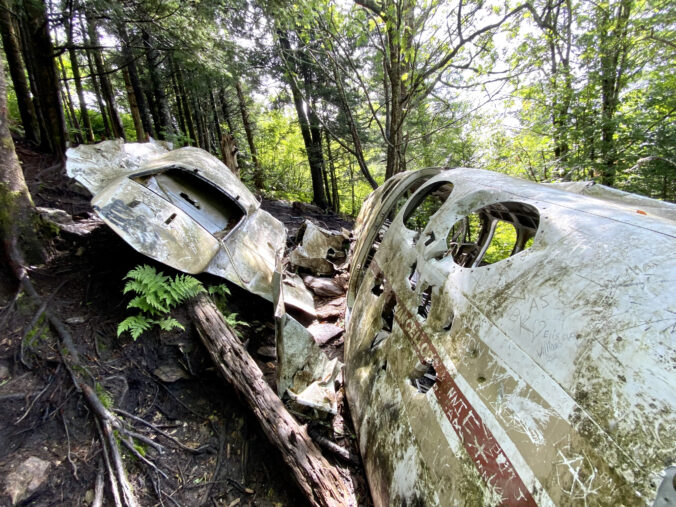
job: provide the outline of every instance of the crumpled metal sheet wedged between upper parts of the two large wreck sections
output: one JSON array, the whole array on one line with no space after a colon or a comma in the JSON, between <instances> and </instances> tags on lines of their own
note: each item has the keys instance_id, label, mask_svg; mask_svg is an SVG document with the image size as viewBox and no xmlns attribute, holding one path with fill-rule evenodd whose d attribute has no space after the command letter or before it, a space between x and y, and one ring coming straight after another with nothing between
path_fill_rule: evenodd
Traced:
<instances>
[{"instance_id":1,"label":"crumpled metal sheet wedged between upper parts of the two large wreck sections","mask_svg":"<svg viewBox=\"0 0 676 507\"><path fill-rule=\"evenodd\" d=\"M291 264L318 275L330 275L345 265L349 245L345 234L327 231L310 220L305 221L300 234L303 239L289 254Z\"/></svg>"}]
</instances>

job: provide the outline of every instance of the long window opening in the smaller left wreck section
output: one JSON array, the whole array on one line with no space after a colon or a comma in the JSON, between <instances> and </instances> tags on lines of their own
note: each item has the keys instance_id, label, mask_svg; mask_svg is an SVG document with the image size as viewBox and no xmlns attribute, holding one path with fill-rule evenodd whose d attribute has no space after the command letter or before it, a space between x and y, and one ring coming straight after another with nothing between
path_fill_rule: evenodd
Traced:
<instances>
[{"instance_id":1,"label":"long window opening in the smaller left wreck section","mask_svg":"<svg viewBox=\"0 0 676 507\"><path fill-rule=\"evenodd\" d=\"M245 216L236 199L190 171L170 168L132 176L132 179L180 208L219 239ZM165 223L169 224L171 220Z\"/></svg>"}]
</instances>

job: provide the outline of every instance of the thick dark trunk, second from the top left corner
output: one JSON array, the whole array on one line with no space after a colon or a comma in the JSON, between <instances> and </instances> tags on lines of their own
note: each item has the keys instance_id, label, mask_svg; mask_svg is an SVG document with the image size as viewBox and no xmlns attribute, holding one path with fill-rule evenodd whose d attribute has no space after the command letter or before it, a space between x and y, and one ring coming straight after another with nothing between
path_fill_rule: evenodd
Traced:
<instances>
[{"instance_id":1,"label":"thick dark trunk, second from the top left corner","mask_svg":"<svg viewBox=\"0 0 676 507\"><path fill-rule=\"evenodd\" d=\"M66 151L66 124L59 97L59 79L54 62L54 48L49 34L47 11L43 0L22 2L25 13L29 42L26 47L31 52L32 74L35 78L38 107L47 136L41 139L41 147L63 158Z\"/></svg>"}]
</instances>

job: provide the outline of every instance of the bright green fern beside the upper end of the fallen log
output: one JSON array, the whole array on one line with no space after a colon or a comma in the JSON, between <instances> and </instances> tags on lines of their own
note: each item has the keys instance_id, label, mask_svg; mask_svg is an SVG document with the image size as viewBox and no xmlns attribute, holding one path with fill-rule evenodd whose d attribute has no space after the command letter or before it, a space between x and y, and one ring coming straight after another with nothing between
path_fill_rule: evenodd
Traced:
<instances>
[{"instance_id":1,"label":"bright green fern beside the upper end of the fallen log","mask_svg":"<svg viewBox=\"0 0 676 507\"><path fill-rule=\"evenodd\" d=\"M122 293L136 293L127 308L136 308L140 313L120 322L117 336L129 332L134 340L153 326L164 331L185 329L170 315L171 310L205 290L202 282L190 275L176 275L172 279L148 265L136 266L124 279L128 281Z\"/></svg>"}]
</instances>

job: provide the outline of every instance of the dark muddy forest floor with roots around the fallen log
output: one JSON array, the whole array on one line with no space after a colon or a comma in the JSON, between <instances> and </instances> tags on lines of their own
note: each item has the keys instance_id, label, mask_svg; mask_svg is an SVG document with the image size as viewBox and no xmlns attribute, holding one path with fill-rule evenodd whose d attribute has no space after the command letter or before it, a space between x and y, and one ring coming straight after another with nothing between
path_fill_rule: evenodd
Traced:
<instances>
[{"instance_id":1,"label":"dark muddy forest floor with roots around the fallen log","mask_svg":"<svg viewBox=\"0 0 676 507\"><path fill-rule=\"evenodd\" d=\"M90 216L90 197L63 176L60 165L20 144L17 152L37 206L59 208L78 218ZM288 203L265 202L264 208L287 225L291 240L306 218L333 230L351 228L340 217L308 216ZM122 295L126 273L139 264L173 274L170 268L138 254L106 226L85 237L61 232L48 250L48 262L32 268L30 278L48 309L68 326L99 396L109 396L113 407L197 449L182 449L154 429L122 417L164 447L162 454L152 448L142 452L166 477L131 454L125 456L142 505L305 504L280 453L218 375L187 312L175 315L186 331L149 331L137 341L117 337L117 325L128 315L129 298ZM240 328L242 339L274 384L275 361L269 354L275 345L272 304L234 286L231 291L229 310L248 324ZM342 352L341 343L334 341L335 354ZM58 344L42 309L18 291L7 268L0 266L0 505L12 504L8 475L30 457L47 468L43 480L35 472L40 484L20 505L88 505L94 497L101 447L94 418L63 367ZM339 416L349 436L339 443L358 454L346 411L343 403ZM302 422L330 427L326 422ZM369 505L363 469L343 468L360 503Z\"/></svg>"}]
</instances>

